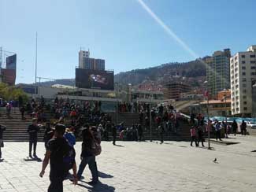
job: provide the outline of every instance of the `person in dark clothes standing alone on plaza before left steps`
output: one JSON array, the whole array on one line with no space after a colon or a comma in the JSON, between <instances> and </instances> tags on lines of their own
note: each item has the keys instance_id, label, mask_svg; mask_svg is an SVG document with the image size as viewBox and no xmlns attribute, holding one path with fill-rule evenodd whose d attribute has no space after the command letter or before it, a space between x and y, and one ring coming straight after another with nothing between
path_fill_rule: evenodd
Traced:
<instances>
[{"instance_id":1,"label":"person in dark clothes standing alone on plaza before left steps","mask_svg":"<svg viewBox=\"0 0 256 192\"><path fill-rule=\"evenodd\" d=\"M32 124L28 126L28 135L29 135L29 154L28 157L32 158L32 146L33 146L33 157L36 156L36 144L37 144L37 133L39 132L39 126L36 123L36 119L33 118Z\"/></svg>"}]
</instances>

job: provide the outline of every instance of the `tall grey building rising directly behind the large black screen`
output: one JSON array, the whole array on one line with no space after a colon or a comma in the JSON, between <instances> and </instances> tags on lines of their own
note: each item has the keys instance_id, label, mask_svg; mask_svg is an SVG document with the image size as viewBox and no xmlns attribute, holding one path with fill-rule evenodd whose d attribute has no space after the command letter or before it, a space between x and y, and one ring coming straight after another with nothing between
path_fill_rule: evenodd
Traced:
<instances>
[{"instance_id":1,"label":"tall grey building rising directly behind the large black screen","mask_svg":"<svg viewBox=\"0 0 256 192\"><path fill-rule=\"evenodd\" d=\"M90 57L90 51L80 50L79 68L105 70L105 60Z\"/></svg>"}]
</instances>

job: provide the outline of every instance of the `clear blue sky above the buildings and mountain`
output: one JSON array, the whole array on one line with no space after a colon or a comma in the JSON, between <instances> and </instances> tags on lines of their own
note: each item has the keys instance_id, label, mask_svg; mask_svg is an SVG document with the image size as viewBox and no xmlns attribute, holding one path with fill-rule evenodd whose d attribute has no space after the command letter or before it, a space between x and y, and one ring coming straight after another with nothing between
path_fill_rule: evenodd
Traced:
<instances>
[{"instance_id":1,"label":"clear blue sky above the buildings and mountain","mask_svg":"<svg viewBox=\"0 0 256 192\"><path fill-rule=\"evenodd\" d=\"M256 44L254 0L143 0L198 56ZM80 47L115 73L194 57L138 0L0 0L0 46L17 53L17 83L74 78Z\"/></svg>"}]
</instances>

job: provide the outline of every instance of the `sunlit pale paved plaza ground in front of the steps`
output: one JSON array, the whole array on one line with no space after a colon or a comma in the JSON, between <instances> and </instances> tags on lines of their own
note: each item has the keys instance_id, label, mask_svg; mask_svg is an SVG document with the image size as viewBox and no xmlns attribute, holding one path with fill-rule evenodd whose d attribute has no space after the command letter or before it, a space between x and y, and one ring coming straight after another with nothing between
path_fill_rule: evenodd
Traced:
<instances>
[{"instance_id":1,"label":"sunlit pale paved plaza ground in front of the steps","mask_svg":"<svg viewBox=\"0 0 256 192\"><path fill-rule=\"evenodd\" d=\"M256 137L241 135L228 141L236 145L212 144L214 150L191 147L189 142L102 142L97 157L100 183L89 186L91 173L86 168L83 181L73 186L65 181L68 191L255 191ZM0 192L46 191L49 167L39 177L42 162L24 161L28 142L6 142L0 163ZM206 143L207 145L207 143ZM80 163L81 143L76 143ZM38 155L43 158L43 143ZM214 163L213 159L217 158Z\"/></svg>"}]
</instances>

